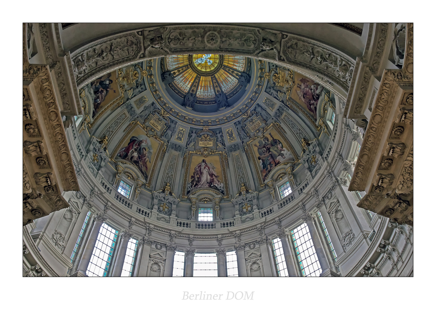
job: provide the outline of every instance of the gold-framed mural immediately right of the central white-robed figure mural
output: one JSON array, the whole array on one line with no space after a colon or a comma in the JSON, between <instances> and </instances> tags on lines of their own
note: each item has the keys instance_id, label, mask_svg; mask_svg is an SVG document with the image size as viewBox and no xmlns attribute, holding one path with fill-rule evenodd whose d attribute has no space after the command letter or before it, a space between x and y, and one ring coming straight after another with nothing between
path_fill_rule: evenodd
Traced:
<instances>
[{"instance_id":1,"label":"gold-framed mural immediately right of the central white-robed figure mural","mask_svg":"<svg viewBox=\"0 0 436 311\"><path fill-rule=\"evenodd\" d=\"M248 145L261 184L274 167L286 162L294 162L297 159L290 142L273 124L263 132L262 137L253 138Z\"/></svg>"}]
</instances>

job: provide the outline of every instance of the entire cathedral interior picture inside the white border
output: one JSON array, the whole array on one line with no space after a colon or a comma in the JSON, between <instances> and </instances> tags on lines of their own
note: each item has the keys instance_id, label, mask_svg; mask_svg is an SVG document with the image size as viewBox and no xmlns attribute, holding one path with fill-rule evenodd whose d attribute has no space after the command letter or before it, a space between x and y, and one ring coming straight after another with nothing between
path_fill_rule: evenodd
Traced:
<instances>
[{"instance_id":1,"label":"entire cathedral interior picture inside the white border","mask_svg":"<svg viewBox=\"0 0 436 311\"><path fill-rule=\"evenodd\" d=\"M412 273L409 24L35 25L23 269L48 271L44 256L51 275L192 276L212 254L221 276L225 258L240 276ZM394 33L405 68L383 71Z\"/></svg>"}]
</instances>

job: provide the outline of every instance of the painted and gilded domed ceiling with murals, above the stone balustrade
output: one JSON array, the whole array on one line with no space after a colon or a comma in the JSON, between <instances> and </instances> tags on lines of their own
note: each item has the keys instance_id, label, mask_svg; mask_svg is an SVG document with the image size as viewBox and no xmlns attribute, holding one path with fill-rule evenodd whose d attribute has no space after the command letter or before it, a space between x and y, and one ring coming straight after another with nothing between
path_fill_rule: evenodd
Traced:
<instances>
[{"instance_id":1,"label":"painted and gilded domed ceiling with murals, above the stone balustrade","mask_svg":"<svg viewBox=\"0 0 436 311\"><path fill-rule=\"evenodd\" d=\"M230 204L220 216L226 218L234 212L225 202L241 184L262 191L272 178L292 176L293 187L307 174L314 178L334 133L336 104L324 85L237 55L153 58L106 73L79 94L78 133L93 150L93 174L103 169L112 185L122 176L134 180L136 204L144 208L150 208L147 191L170 187L182 200L182 218L190 213L187 198L198 191ZM201 174L205 167L208 176Z\"/></svg>"}]
</instances>

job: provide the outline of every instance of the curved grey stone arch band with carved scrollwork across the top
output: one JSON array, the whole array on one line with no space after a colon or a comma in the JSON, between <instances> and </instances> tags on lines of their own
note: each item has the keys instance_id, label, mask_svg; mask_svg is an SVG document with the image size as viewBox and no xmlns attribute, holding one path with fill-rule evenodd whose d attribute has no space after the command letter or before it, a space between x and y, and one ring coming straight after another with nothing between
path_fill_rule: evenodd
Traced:
<instances>
[{"instance_id":1,"label":"curved grey stone arch band with carved scrollwork across the top","mask_svg":"<svg viewBox=\"0 0 436 311\"><path fill-rule=\"evenodd\" d=\"M147 28L94 41L72 52L80 87L129 63L172 54L217 53L259 57L319 73L348 92L355 61L310 39L254 27L183 25Z\"/></svg>"}]
</instances>

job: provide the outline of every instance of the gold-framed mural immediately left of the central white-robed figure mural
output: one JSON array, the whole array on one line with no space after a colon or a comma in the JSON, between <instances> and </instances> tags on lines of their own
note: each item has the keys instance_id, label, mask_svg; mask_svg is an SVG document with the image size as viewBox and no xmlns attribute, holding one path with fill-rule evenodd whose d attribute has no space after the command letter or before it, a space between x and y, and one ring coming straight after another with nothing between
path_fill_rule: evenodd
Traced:
<instances>
[{"instance_id":1,"label":"gold-framed mural immediately left of the central white-robed figure mural","mask_svg":"<svg viewBox=\"0 0 436 311\"><path fill-rule=\"evenodd\" d=\"M162 141L157 140L137 124L123 137L117 146L116 154L112 157L115 161L123 160L136 166L144 179L149 182L161 147Z\"/></svg>"}]
</instances>

